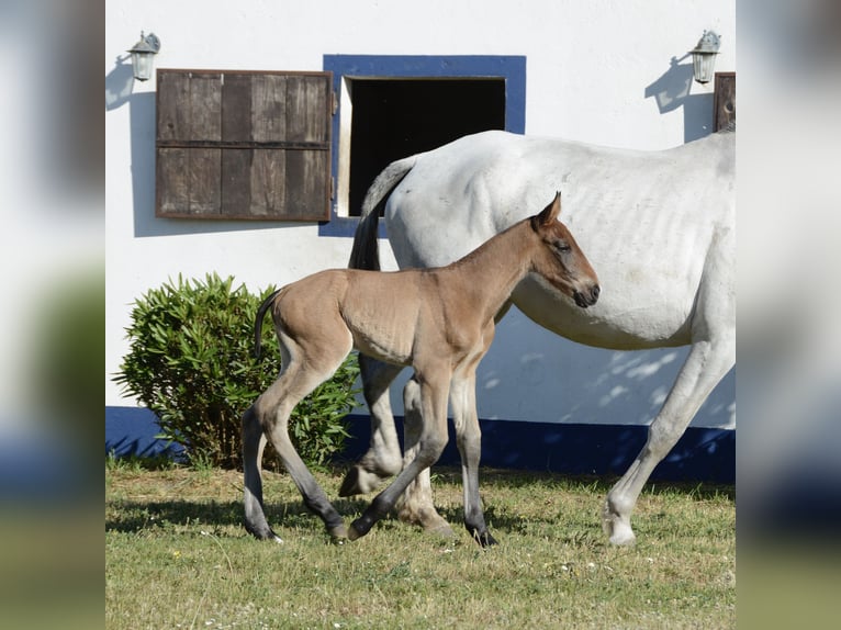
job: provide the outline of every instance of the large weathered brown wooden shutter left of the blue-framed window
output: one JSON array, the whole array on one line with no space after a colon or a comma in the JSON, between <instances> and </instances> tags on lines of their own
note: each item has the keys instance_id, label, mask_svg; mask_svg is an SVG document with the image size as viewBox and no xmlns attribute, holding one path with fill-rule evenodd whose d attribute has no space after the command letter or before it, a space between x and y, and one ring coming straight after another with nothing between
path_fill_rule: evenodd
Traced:
<instances>
[{"instance_id":1,"label":"large weathered brown wooden shutter left of the blue-framed window","mask_svg":"<svg viewBox=\"0 0 841 630\"><path fill-rule=\"evenodd\" d=\"M156 216L329 220L330 72L157 75Z\"/></svg>"}]
</instances>

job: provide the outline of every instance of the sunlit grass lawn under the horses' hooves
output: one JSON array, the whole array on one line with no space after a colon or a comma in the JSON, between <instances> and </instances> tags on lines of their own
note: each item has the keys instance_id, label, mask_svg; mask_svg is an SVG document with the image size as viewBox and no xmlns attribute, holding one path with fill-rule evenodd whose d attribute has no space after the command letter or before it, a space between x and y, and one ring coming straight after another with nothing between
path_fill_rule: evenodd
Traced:
<instances>
[{"instance_id":1,"label":"sunlit grass lawn under the horses' hooves","mask_svg":"<svg viewBox=\"0 0 841 630\"><path fill-rule=\"evenodd\" d=\"M338 496L344 471L316 473ZM649 484L637 545L598 514L613 480L480 471L500 544L461 526L461 474L433 487L455 538L386 518L332 544L291 479L263 473L282 544L242 527L242 473L105 466L105 626L130 628L732 628L733 488ZM370 497L336 499L350 522Z\"/></svg>"}]
</instances>

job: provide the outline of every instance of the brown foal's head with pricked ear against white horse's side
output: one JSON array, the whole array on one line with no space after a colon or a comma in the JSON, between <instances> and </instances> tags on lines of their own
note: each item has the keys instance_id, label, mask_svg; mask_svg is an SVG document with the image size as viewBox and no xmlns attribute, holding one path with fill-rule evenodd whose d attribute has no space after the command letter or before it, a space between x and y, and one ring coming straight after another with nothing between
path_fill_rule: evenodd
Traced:
<instances>
[{"instance_id":1,"label":"brown foal's head with pricked ear against white horse's side","mask_svg":"<svg viewBox=\"0 0 841 630\"><path fill-rule=\"evenodd\" d=\"M559 192L552 203L531 217L531 228L540 237L540 251L534 257L532 271L586 308L598 300L598 277L570 230L558 221L560 212Z\"/></svg>"}]
</instances>

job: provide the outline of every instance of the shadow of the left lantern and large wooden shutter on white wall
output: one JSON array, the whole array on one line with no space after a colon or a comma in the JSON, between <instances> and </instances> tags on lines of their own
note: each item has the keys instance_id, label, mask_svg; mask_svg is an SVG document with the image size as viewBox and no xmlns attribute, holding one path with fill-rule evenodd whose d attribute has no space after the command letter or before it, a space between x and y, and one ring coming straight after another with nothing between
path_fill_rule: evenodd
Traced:
<instances>
[{"instance_id":1,"label":"shadow of the left lantern and large wooden shutter on white wall","mask_svg":"<svg viewBox=\"0 0 841 630\"><path fill-rule=\"evenodd\" d=\"M117 56L105 75L105 113L128 105L134 236L177 236L290 227L280 222L197 221L155 216L155 95L134 92L128 55Z\"/></svg>"}]
</instances>

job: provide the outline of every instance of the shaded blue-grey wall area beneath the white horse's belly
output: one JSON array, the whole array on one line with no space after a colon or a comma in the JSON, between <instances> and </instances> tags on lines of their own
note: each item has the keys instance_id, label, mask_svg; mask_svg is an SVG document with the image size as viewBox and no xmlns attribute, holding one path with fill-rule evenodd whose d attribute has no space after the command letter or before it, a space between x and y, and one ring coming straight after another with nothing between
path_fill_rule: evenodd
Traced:
<instances>
[{"instance_id":1,"label":"shaded blue-grey wall area beneath the white horse's belly","mask_svg":"<svg viewBox=\"0 0 841 630\"><path fill-rule=\"evenodd\" d=\"M628 351L591 348L540 328L512 308L476 371L479 415L648 425L663 406L688 351L688 346ZM692 425L736 426L736 368L713 390Z\"/></svg>"}]
</instances>

